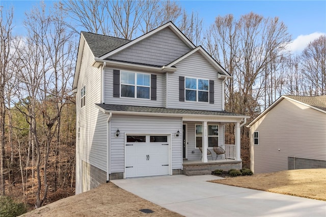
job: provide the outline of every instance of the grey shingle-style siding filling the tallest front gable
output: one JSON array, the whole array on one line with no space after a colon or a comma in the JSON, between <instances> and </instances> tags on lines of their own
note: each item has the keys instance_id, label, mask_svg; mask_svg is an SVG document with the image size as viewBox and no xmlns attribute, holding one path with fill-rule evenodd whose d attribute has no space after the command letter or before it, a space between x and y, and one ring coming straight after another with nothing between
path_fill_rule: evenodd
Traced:
<instances>
[{"instance_id":1,"label":"grey shingle-style siding filling the tallest front gable","mask_svg":"<svg viewBox=\"0 0 326 217\"><path fill-rule=\"evenodd\" d=\"M108 58L164 66L189 50L170 28L166 28Z\"/></svg>"}]
</instances>

